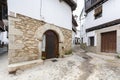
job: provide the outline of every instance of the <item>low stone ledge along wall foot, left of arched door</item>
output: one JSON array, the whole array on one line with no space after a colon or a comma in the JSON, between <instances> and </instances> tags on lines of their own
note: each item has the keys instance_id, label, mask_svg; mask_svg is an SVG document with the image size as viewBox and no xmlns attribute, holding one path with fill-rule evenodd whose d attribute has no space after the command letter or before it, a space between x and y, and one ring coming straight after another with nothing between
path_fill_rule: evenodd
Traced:
<instances>
[{"instance_id":1,"label":"low stone ledge along wall foot, left of arched door","mask_svg":"<svg viewBox=\"0 0 120 80\"><path fill-rule=\"evenodd\" d=\"M8 72L9 73L14 73L17 70L25 70L32 68L34 66L38 66L43 63L43 60L33 60L33 61L26 61L26 62L20 62L20 63L15 63L15 64L10 64L8 65Z\"/></svg>"}]
</instances>

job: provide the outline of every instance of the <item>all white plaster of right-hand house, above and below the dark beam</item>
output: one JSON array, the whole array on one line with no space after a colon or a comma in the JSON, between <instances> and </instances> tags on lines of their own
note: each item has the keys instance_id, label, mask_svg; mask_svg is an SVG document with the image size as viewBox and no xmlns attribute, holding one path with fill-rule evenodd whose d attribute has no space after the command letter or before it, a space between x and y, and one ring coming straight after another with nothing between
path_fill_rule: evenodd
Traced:
<instances>
[{"instance_id":1,"label":"all white plaster of right-hand house, above and below the dark beam","mask_svg":"<svg viewBox=\"0 0 120 80\"><path fill-rule=\"evenodd\" d=\"M87 43L89 45L89 37L94 36L95 38L95 46L97 45L97 35L95 34L95 31L91 31L86 33L85 30L87 28L91 28L106 22L110 22L116 19L120 18L120 0L108 0L105 2L102 7L103 7L103 12L102 12L102 17L98 19L94 19L94 10L89 12L85 18L85 22L83 24L83 27L81 27L81 37L83 37L83 42Z\"/></svg>"}]
</instances>

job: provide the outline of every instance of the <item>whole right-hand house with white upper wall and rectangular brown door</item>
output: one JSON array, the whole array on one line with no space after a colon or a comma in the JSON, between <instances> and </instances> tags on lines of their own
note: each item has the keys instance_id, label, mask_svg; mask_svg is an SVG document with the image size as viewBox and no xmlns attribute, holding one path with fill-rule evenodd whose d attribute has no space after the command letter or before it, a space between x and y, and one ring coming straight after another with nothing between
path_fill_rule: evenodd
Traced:
<instances>
[{"instance_id":1,"label":"whole right-hand house with white upper wall and rectangular brown door","mask_svg":"<svg viewBox=\"0 0 120 80\"><path fill-rule=\"evenodd\" d=\"M81 39L87 50L120 53L119 0L85 0Z\"/></svg>"}]
</instances>

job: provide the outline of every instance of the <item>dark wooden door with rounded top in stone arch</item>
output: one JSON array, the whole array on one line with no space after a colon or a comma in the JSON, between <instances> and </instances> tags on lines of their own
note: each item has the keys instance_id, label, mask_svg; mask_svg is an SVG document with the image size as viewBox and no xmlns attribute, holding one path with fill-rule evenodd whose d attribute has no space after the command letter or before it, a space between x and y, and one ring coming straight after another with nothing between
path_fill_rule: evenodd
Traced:
<instances>
[{"instance_id":1,"label":"dark wooden door with rounded top in stone arch","mask_svg":"<svg viewBox=\"0 0 120 80\"><path fill-rule=\"evenodd\" d=\"M58 54L58 37L55 32L49 30L46 35L46 58L55 58Z\"/></svg>"}]
</instances>

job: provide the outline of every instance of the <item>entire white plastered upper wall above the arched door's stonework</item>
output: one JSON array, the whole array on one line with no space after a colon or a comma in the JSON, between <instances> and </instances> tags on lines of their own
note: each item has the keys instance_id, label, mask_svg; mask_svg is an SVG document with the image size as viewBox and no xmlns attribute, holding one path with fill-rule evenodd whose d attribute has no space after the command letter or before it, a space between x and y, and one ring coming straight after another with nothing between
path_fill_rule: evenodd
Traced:
<instances>
[{"instance_id":1,"label":"entire white plastered upper wall above the arched door's stonework","mask_svg":"<svg viewBox=\"0 0 120 80\"><path fill-rule=\"evenodd\" d=\"M64 1L8 0L8 10L72 30L72 11Z\"/></svg>"}]
</instances>

